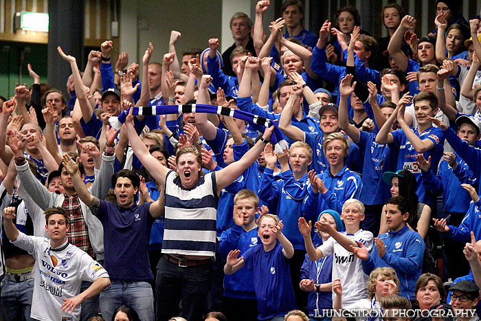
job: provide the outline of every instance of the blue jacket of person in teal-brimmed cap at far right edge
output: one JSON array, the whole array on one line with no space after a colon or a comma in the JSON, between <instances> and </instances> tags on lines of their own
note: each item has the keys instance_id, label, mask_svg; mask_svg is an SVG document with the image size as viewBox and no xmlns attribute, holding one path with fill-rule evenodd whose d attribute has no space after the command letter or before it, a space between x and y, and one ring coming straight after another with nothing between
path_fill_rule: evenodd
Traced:
<instances>
[{"instance_id":1,"label":"blue jacket of person in teal-brimmed cap at far right edge","mask_svg":"<svg viewBox=\"0 0 481 321\"><path fill-rule=\"evenodd\" d=\"M429 169L422 172L422 181L426 190L431 190L434 195L443 193L443 204L446 212L465 213L469 208L471 196L469 192L461 187L461 184L476 186L477 179L469 169L466 162L459 155L456 155L458 166L451 168L448 162L443 159L439 164L438 175L434 175Z\"/></svg>"}]
</instances>

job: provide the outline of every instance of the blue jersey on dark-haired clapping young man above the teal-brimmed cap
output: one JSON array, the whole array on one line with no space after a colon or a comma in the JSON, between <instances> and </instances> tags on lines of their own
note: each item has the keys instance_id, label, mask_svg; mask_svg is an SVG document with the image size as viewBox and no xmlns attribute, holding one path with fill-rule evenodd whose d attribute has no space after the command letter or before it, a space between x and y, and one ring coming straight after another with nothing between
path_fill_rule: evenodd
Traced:
<instances>
[{"instance_id":1,"label":"blue jersey on dark-haired clapping young man above the teal-brimmed cap","mask_svg":"<svg viewBox=\"0 0 481 321\"><path fill-rule=\"evenodd\" d=\"M418 129L413 129L413 131L414 134L421 138L421 140L428 139L434 143L434 147L429 149L429 151L423 153L423 156L425 159L428 159L428 157L430 156L432 166L437 168L439 160L443 156L443 144L445 141L443 131L441 131L440 128L434 126L429 127L429 129L426 129L421 134L418 133ZM407 139L402 129L393 131L392 137L394 138L394 142L392 142L392 144L389 144L390 148L395 148L399 150L397 170L407 169L414 174L414 176L416 177L416 181L418 182L416 194L418 195L419 201L421 203L426 203L429 205L436 204L436 195L434 195L432 191L426 190L425 185L423 184L421 168L419 168L418 161L416 159L418 152L412 146L411 142Z\"/></svg>"}]
</instances>

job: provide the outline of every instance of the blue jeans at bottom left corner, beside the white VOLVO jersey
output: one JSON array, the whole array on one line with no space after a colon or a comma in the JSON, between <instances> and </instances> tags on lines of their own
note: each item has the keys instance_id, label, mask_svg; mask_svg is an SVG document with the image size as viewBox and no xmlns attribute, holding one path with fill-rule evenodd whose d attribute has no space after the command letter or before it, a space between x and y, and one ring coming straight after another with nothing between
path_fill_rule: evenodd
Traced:
<instances>
[{"instance_id":1,"label":"blue jeans at bottom left corner, beside the white VOLVO jersey","mask_svg":"<svg viewBox=\"0 0 481 321\"><path fill-rule=\"evenodd\" d=\"M35 320L30 318L32 295L34 294L34 278L23 282L1 281L0 313L3 320Z\"/></svg>"}]
</instances>

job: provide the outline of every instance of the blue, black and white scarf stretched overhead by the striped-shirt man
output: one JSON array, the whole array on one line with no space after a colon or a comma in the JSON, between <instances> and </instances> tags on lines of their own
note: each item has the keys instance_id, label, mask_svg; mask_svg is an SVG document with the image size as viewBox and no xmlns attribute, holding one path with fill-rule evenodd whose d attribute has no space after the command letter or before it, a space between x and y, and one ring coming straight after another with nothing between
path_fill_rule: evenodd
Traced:
<instances>
[{"instance_id":1,"label":"blue, black and white scarf stretched overhead by the striped-shirt man","mask_svg":"<svg viewBox=\"0 0 481 321\"><path fill-rule=\"evenodd\" d=\"M229 107L213 106L210 104L170 104L131 108L133 109L133 115L138 116L166 115L172 113L216 113L217 115L225 115L265 127L273 125L274 131L271 136L271 142L276 146L276 153L282 153L284 149L288 148L288 144L282 138L282 133L275 122L252 113L247 113L246 111ZM129 111L130 108L122 111L118 117L109 118L109 122L114 129L120 129L122 127Z\"/></svg>"}]
</instances>

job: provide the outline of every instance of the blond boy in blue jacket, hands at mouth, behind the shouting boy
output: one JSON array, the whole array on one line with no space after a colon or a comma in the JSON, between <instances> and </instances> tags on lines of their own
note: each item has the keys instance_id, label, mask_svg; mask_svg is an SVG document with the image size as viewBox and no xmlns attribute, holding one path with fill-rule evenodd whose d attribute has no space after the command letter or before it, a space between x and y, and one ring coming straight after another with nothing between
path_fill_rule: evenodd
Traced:
<instances>
[{"instance_id":1,"label":"blond boy in blue jacket, hands at mouth, behind the shouting boy","mask_svg":"<svg viewBox=\"0 0 481 321\"><path fill-rule=\"evenodd\" d=\"M259 198L251 190L240 190L234 197L234 227L222 232L219 254L227 257L239 249L243 255L249 248L260 244L255 221ZM256 320L258 316L254 274L249 269L224 276L223 309L227 320Z\"/></svg>"}]
</instances>

